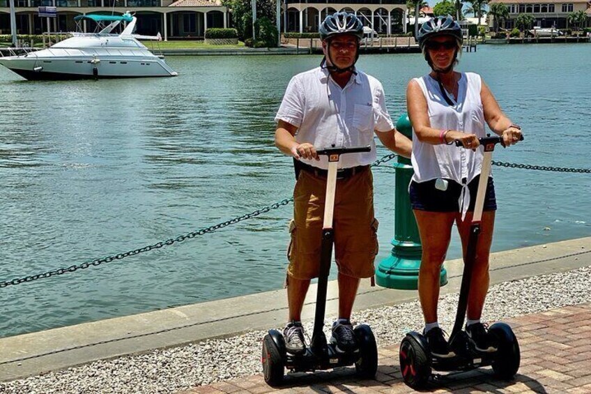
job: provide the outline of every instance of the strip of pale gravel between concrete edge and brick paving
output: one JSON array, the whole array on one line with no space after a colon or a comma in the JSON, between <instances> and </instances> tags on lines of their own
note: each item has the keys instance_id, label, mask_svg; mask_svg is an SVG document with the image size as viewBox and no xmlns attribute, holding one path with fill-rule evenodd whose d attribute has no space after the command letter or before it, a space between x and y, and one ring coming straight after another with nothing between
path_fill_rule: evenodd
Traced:
<instances>
[{"instance_id":1,"label":"strip of pale gravel between concrete edge and brick paving","mask_svg":"<svg viewBox=\"0 0 591 394\"><path fill-rule=\"evenodd\" d=\"M495 321L591 302L589 278L591 267L584 267L503 282L491 287L483 319ZM440 299L440 324L448 330L453 325L457 299L458 294ZM399 343L407 331L420 329L423 324L418 301L363 310L355 313L353 320L369 324L381 347ZM312 333L312 323L305 327L307 333ZM327 325L327 336L328 328ZM265 333L254 331L224 340L97 361L0 383L0 393L175 393L261 372L261 338Z\"/></svg>"}]
</instances>

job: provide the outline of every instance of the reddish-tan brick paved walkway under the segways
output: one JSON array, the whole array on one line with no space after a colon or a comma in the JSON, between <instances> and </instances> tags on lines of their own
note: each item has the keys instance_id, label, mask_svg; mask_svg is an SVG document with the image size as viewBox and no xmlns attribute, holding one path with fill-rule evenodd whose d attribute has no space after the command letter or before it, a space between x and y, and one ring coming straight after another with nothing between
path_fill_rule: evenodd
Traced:
<instances>
[{"instance_id":1,"label":"reddish-tan brick paved walkway under the segways","mask_svg":"<svg viewBox=\"0 0 591 394\"><path fill-rule=\"evenodd\" d=\"M452 374L429 386L434 393L591 393L591 303L505 320L519 339L521 368L513 381L493 377L491 368ZM197 393L412 393L402 379L398 345L379 349L375 380L355 379L355 368L286 377L270 388L261 374L199 386Z\"/></svg>"}]
</instances>

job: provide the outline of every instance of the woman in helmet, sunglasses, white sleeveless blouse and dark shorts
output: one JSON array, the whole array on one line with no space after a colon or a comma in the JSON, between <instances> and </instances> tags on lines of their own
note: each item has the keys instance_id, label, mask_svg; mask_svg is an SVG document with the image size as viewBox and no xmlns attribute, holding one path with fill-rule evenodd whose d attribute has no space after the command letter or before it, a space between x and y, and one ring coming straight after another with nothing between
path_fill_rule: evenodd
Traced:
<instances>
[{"instance_id":1,"label":"woman in helmet, sunglasses, white sleeveless blouse and dark shorts","mask_svg":"<svg viewBox=\"0 0 591 394\"><path fill-rule=\"evenodd\" d=\"M498 350L498 338L490 335L486 324L480 321L489 289L489 254L496 211L494 184L489 174L483 179L486 194L482 195L479 237L473 259L468 258L475 195L484 160L479 138L486 137L486 123L500 135L504 146L521 139L521 128L501 111L482 78L475 73L454 71L462 38L459 24L450 16L424 22L417 39L431 72L412 79L406 92L408 116L413 125L414 175L409 187L410 203L422 243L418 287L425 327L424 336L420 336L429 354L439 363L459 356L445 340L437 315L440 268L454 222L461 237L465 265L470 266L469 278L464 278L468 281L466 340L478 353ZM456 147L454 141L466 149ZM461 331L464 314L466 310L458 313L461 322L459 328L458 324L454 326L456 332L452 337ZM401 349L401 363L408 363L403 353Z\"/></svg>"}]
</instances>

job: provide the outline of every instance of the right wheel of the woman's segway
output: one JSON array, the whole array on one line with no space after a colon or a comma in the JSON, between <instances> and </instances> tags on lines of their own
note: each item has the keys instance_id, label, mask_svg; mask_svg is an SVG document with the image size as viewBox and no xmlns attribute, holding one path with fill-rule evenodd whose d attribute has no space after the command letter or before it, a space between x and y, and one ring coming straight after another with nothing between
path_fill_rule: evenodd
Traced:
<instances>
[{"instance_id":1,"label":"right wheel of the woman's segway","mask_svg":"<svg viewBox=\"0 0 591 394\"><path fill-rule=\"evenodd\" d=\"M511 327L505 323L496 323L489 328L489 333L498 341L498 350L492 361L493 371L500 379L513 379L521 363L519 343Z\"/></svg>"}]
</instances>

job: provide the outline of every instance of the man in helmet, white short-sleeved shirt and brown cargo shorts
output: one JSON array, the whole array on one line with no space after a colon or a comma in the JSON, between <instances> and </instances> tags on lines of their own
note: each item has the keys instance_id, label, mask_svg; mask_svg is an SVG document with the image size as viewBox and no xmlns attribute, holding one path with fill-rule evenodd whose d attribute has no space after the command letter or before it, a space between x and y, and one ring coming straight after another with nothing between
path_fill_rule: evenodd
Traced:
<instances>
[{"instance_id":1,"label":"man in helmet, white short-sleeved shirt and brown cargo shorts","mask_svg":"<svg viewBox=\"0 0 591 394\"><path fill-rule=\"evenodd\" d=\"M293 192L294 218L290 225L286 278L289 323L280 335L282 338L277 339L278 342L284 340L285 349L279 350L289 354L290 359L305 356L309 350L300 315L310 280L318 278L320 288L323 279L324 192L330 187L327 183L330 179L329 162L334 161L328 155L334 151L325 149L322 153L327 156L324 156L318 154L318 149L336 146L342 148L338 151L339 156L350 153L336 159L333 222L339 268L339 319L332 325L330 345L341 354L358 350L351 311L360 279L373 278L374 275L378 222L374 218L373 178L369 168L376 160L374 132L388 149L410 156L410 140L395 130L385 107L381 83L355 67L363 36L360 20L349 13L329 15L320 27L320 36L324 52L320 67L291 79L275 117L275 144L293 157L298 174ZM353 152L346 149L355 146L369 146L369 149L353 149ZM333 223L329 223L330 227ZM330 266L330 261L328 264ZM325 300L318 299L316 308L319 302L322 303L322 313L316 314L315 333L323 326L323 321L318 318L323 319ZM264 346L263 368L268 369L265 360L269 358L266 358ZM287 362L286 367L293 365ZM280 369L282 377L283 366ZM321 368L316 365L309 370L314 369ZM266 380L270 382L267 374Z\"/></svg>"}]
</instances>

